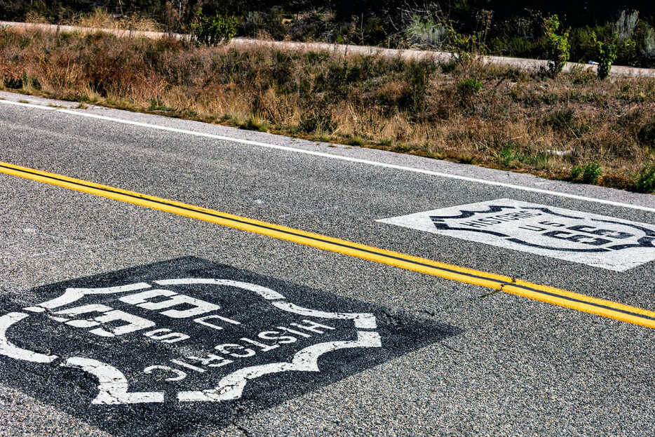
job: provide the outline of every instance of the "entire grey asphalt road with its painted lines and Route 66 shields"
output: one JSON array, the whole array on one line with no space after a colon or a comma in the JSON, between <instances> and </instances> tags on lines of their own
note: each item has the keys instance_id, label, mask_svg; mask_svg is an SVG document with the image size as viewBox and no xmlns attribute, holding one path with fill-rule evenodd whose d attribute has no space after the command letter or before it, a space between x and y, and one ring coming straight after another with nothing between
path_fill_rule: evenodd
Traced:
<instances>
[{"instance_id":1,"label":"entire grey asphalt road with its painted lines and Route 66 shields","mask_svg":"<svg viewBox=\"0 0 655 437\"><path fill-rule=\"evenodd\" d=\"M653 196L0 98L0 435L655 428Z\"/></svg>"}]
</instances>

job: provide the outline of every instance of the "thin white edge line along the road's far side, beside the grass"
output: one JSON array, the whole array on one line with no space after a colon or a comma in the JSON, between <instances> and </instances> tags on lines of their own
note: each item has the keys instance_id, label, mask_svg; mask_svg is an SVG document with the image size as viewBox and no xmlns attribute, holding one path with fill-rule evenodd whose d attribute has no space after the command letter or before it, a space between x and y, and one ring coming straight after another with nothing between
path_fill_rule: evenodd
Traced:
<instances>
[{"instance_id":1,"label":"thin white edge line along the road's far side, beside the grass","mask_svg":"<svg viewBox=\"0 0 655 437\"><path fill-rule=\"evenodd\" d=\"M648 211L649 213L655 213L655 208L649 208L647 206L640 206L640 205L630 205L629 203L608 201L608 200L605 200L605 199L597 199L595 197L586 197L586 196L579 196L577 194L560 193L559 191L548 191L547 189L523 187L522 185L506 184L504 182L495 182L495 181L491 181L491 180L476 179L475 177L449 175L447 173L440 173L440 172L435 172L435 171L432 171L432 170L422 170L420 168L396 166L395 164L381 163L381 162L377 162L377 161L368 161L367 159L358 159L358 158L351 158L349 156L339 156L339 155L332 155L332 154L328 154L328 153L324 153L324 152L314 152L314 151L311 151L311 150L296 149L295 147L280 146L278 144L269 144L269 143L266 143L266 142L259 142L259 141L252 141L252 140L242 140L240 138L225 137L223 135L215 135L215 134L212 134L212 133L201 133L201 132L196 132L195 130L170 128L168 126L160 126L160 125L156 125L156 124L142 123L140 121L115 119L113 117L108 117L108 116L102 116L102 115L96 115L96 114L88 114L88 113L84 113L84 112L71 111L70 109L60 109L60 108L56 108L56 107L44 107L44 106L41 106L41 105L33 105L31 103L12 102L10 100L1 100L1 99L0 99L0 103L8 103L9 105L20 105L20 106L25 106L25 107L32 107L32 108L36 108L36 109L54 110L56 112L63 112L65 114L72 114L72 115L76 115L76 116L83 116L83 117L88 117L90 119L98 119L98 120L104 120L104 121L114 121L116 123L123 123L123 124L128 124L128 125L131 125L131 126L140 126L142 128L168 130L169 132L183 133L183 134L187 134L187 135L195 135L196 137L205 137L205 138L212 138L214 140L238 142L238 143L241 143L241 144L248 144L250 146L268 147L269 149L278 149L278 150L285 150L287 152L296 152L296 153L302 153L302 154L312 155L312 156L321 156L323 158L339 159L341 161L349 161L349 162L353 162L353 163L366 164L368 166L393 168L394 170L403 170L403 171L409 171L409 172L412 172L412 173L421 173L423 175L445 177L447 179L463 180L463 181L466 181L466 182L475 182L475 183L478 183L478 184L492 185L494 187L504 187L504 188L517 189L517 190L520 190L520 191L530 191L532 193L548 194L548 195L551 195L551 196L565 197L567 199L576 199L576 200L580 200L580 201L589 201L589 202L595 202L595 203L602 203L604 205L619 206L619 207L622 207L622 208L630 208L630 209L634 209L634 210L643 210L643 211Z\"/></svg>"}]
</instances>

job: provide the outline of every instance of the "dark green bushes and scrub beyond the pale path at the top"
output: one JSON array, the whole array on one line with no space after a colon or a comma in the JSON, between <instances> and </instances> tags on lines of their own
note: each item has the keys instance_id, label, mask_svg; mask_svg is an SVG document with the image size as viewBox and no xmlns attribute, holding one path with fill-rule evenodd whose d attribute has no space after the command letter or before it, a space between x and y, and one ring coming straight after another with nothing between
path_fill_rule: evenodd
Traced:
<instances>
[{"instance_id":1,"label":"dark green bushes and scrub beyond the pale path at the top","mask_svg":"<svg viewBox=\"0 0 655 437\"><path fill-rule=\"evenodd\" d=\"M655 67L644 0L0 0L0 20L178 33L194 32L198 11L259 39Z\"/></svg>"}]
</instances>

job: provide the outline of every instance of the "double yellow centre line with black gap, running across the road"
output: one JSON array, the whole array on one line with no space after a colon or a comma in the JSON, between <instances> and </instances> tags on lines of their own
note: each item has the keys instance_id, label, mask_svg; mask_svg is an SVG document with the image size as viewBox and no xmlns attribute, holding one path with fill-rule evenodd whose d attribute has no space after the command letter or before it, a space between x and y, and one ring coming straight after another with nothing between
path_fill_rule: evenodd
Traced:
<instances>
[{"instance_id":1,"label":"double yellow centre line with black gap, running across the road","mask_svg":"<svg viewBox=\"0 0 655 437\"><path fill-rule=\"evenodd\" d=\"M323 250L330 250L331 252L363 258L364 260L379 262L381 264L389 264L401 269L418 271L420 273L438 276L440 278L451 279L452 281L479 285L481 287L492 288L493 290L501 290L505 293L547 302L560 307L576 309L577 311L596 314L597 316L614 318L616 320L634 323L635 325L655 328L654 311L647 311L645 309L631 307L630 305L619 304L609 300L597 299L580 293L572 293L567 290L548 287L547 285L515 280L509 276L502 276L474 269L466 269L452 264L445 264L443 262L405 255L404 253L393 252L391 250L366 246L360 243L352 243L351 241L341 240L339 238L314 234L313 232L301 231L299 229L262 222L260 220L252 220L248 217L241 217L239 215L222 213L217 210L201 208L199 206L190 205L189 203L176 202L169 199L162 199L161 197L148 196L147 194L141 194L135 191L126 191L119 188L108 187L107 185L96 184L95 182L74 179L73 177L15 166L10 163L0 162L0 173L24 177L25 179L74 189L76 191L83 191L85 193L95 194L97 196L107 197L117 201L166 211L167 213L184 215L185 217L204 220L205 222L212 222L222 226L242 229L243 231L292 241L293 243L304 244L306 246Z\"/></svg>"}]
</instances>

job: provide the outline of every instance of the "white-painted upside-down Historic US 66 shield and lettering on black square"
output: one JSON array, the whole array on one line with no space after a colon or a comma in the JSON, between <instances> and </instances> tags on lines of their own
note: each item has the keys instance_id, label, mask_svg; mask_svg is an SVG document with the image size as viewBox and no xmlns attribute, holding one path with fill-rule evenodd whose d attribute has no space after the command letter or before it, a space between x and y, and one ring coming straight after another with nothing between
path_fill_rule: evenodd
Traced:
<instances>
[{"instance_id":1,"label":"white-painted upside-down Historic US 66 shield and lettering on black square","mask_svg":"<svg viewBox=\"0 0 655 437\"><path fill-rule=\"evenodd\" d=\"M379 348L381 347L381 339L378 332L373 331L377 329L377 321L373 314L371 313L344 313L344 312L330 312L330 311L320 311L316 309L309 309L300 307L296 304L286 301L286 297L280 293L266 288L262 285L257 285L255 283L246 283L241 281L232 281L228 279L220 278L170 278L163 279L158 281L153 281L157 285L203 285L205 288L210 285L212 287L217 286L227 286L231 288L240 288L241 290L247 290L252 292L252 294L257 295L259 298L263 298L264 302L271 305L272 307L283 311L287 314L296 314L304 317L318 318L318 319L332 319L333 321L342 320L342 321L352 321L353 328L355 328L357 333L356 340L345 340L345 341L334 341L328 339L321 339L325 332L337 331L337 328L325 325L323 323L318 323L316 321L302 319L302 323L291 323L286 321L285 323L289 326L295 328L286 328L276 326L278 330L263 330L259 332L260 329L255 330L254 332L249 332L248 337L241 337L238 339L241 344L238 344L232 339L234 343L223 343L215 345L215 343L204 345L205 352L197 354L197 356L184 356L182 349L173 349L175 347L167 348L171 351L174 356L184 356L184 359L170 359L170 363L176 364L186 369L194 370L198 373L204 374L208 370L215 370L224 365L229 365L236 363L236 365L241 364L240 368L236 370L231 370L227 375L215 375L211 372L208 372L207 378L205 379L205 384L209 383L210 385L215 385L211 389L198 389L198 387L186 387L184 390L177 391L177 401L187 402L187 401L230 401L234 399L241 398L243 395L243 389L245 388L248 381L251 379L256 379L264 375L270 375L273 373L279 372L290 372L290 371L301 371L301 372L319 372L318 368L318 358L323 354L328 354L332 351L337 351L339 349L350 349L350 348ZM146 289L147 290L144 290ZM220 290L220 289L219 289ZM128 294L130 293L130 294ZM161 300L161 297L165 297L165 300ZM86 298L86 299L85 299ZM72 308L60 309L55 311L53 314L48 314L53 309L58 309L62 306L73 304L79 300L97 300L98 298L102 299L102 304L100 303L88 303L81 302L81 305ZM156 299L157 302L152 302L153 299ZM49 364L57 360L58 356L46 356L43 354L36 353L34 351L29 351L27 349L21 349L16 347L13 343L7 338L7 330L11 326L25 321L25 319L33 316L39 323L43 321L43 317L53 319L65 325L72 326L73 328L86 330L95 335L100 335L102 337L107 337L108 339L113 339L117 336L123 336L123 342L137 342L143 339L143 337L148 337L149 339L154 339L158 342L163 342L167 344L173 344L176 342L183 342L184 340L190 339L189 335L182 334L180 332L171 332L168 328L157 328L155 330L149 330L148 332L143 332L144 330L154 328L157 325L154 321L151 321L143 316L136 316L135 314L128 313L126 311L116 310L113 307L109 307L107 304L110 301L114 301L112 305L119 303L130 305L130 308L135 311L140 311L143 315L148 314L161 314L167 316L168 318L173 319L193 319L195 316L200 314L210 313L222 308L217 304L212 304L210 302L205 302L204 300L197 299L195 297L190 297L187 295L182 295L180 293L173 292L171 290L161 290L156 288L151 288L151 285L144 282L132 283L128 285L116 285L113 287L103 287L103 288L66 288L60 297L55 299L42 302L35 307L28 307L32 309L48 309L49 311L34 311L36 314L25 314L18 312L10 312L0 316L0 355L4 355L8 358L12 358L18 361L30 361L33 363L44 363ZM80 303L80 302L78 302ZM183 311L178 311L174 309L169 309L171 307L178 307L182 305L184 307ZM188 307L191 306L189 309ZM159 311L161 309L167 309L166 311ZM271 316L271 311L268 307L263 311L266 317ZM84 316L87 314L100 313L101 316L97 316L93 319L82 319L76 318L78 316ZM39 320L39 317L41 319ZM232 325L241 325L240 322L231 320L230 318L224 318L217 314L211 314L210 316L203 316L201 318L196 318L192 320L194 323L200 323L201 325L208 326L210 330L223 330L222 326L213 325L206 322L208 317L215 317L221 321L227 321ZM47 320L47 319L46 319ZM161 319L160 319L161 320ZM293 320L293 319L292 319ZM108 330L103 328L97 328L97 326L103 326L109 322L122 321L127 324L122 324L119 326L112 326L112 328L107 327ZM244 321L244 323L252 323L252 318ZM255 321L256 322L256 321ZM23 322L25 323L25 322ZM278 324L281 322L278 321ZM192 325L192 324L191 324ZM189 321L187 320L187 325L183 325L183 328L193 329L189 327ZM341 326L343 328L343 325ZM15 328L13 330L13 335L20 337L22 330L25 330L25 326L20 328ZM89 330L89 328L94 328ZM141 335L128 335L134 334L135 332L141 332ZM304 332L301 332L304 331ZM292 337L290 335L283 335L285 333L297 333L297 337ZM316 335L318 334L318 335ZM211 341L211 336L202 335L200 339L209 339ZM305 339L311 340L305 340ZM266 364L257 364L253 365L252 361L244 358L250 358L258 356L262 357L262 354L265 354L267 351L278 349L281 345L294 344L299 342L299 340L304 340L305 342L309 341L312 344L298 346L299 350L293 354L291 362L276 361L274 356L271 356L272 363ZM197 340L197 338L196 338ZM224 341L224 340L223 340ZM264 343L264 341L268 343ZM273 342L271 344L271 342ZM96 344L96 342L91 339L89 344ZM246 344L246 346L243 346ZM114 343L114 346L116 344ZM177 346L177 345L176 345ZM201 352L201 351L199 351ZM96 354L103 356L102 351L96 351ZM147 357L147 350L144 349L143 354ZM179 355L178 355L179 354ZM266 356L266 355L264 355ZM229 358L228 358L229 357ZM109 355L107 361L111 361L111 358L116 358L114 355ZM236 359L231 359L236 358ZM161 358L158 358L161 359ZM277 358L279 359L279 358ZM93 404L104 404L104 405L119 405L119 404L131 404L131 403L162 403L164 402L164 392L163 391L140 391L140 392L129 392L130 382L126 375L119 370L120 363L105 363L104 361L99 361L95 358L87 358L83 356L72 356L69 358L62 358L62 363L60 366L68 368L79 368L84 372L93 375L97 379L97 396L91 401ZM187 361L196 361L195 365L187 363ZM259 360L261 361L261 360ZM249 365L250 364L250 365ZM201 367L204 366L204 367ZM236 367L233 366L233 367ZM49 370L48 370L49 369ZM50 366L45 371L51 371L53 369ZM144 368L142 373L145 375L150 375L153 370L164 370L166 372L175 373L175 377L168 377L165 381L176 382L184 379L187 375L186 372L183 372L180 369L170 368L166 365L154 364L147 365ZM130 376L131 379L131 376ZM205 385L206 386L206 385ZM160 387L161 389L161 387Z\"/></svg>"}]
</instances>

